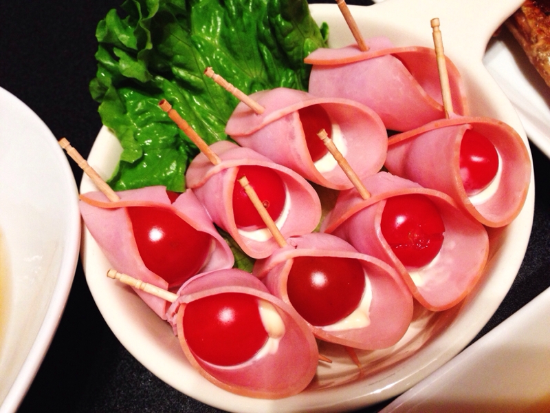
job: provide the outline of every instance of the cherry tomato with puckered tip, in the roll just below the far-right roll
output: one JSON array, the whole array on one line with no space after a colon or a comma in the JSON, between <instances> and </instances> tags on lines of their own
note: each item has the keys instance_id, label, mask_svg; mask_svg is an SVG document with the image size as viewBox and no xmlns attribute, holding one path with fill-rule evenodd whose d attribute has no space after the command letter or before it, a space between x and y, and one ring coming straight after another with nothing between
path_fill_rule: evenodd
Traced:
<instances>
[{"instance_id":1,"label":"cherry tomato with puckered tip, in the roll just below the far-right roll","mask_svg":"<svg viewBox=\"0 0 550 413\"><path fill-rule=\"evenodd\" d=\"M407 267L429 264L443 244L445 225L437 207L424 195L388 198L380 225L384 239Z\"/></svg>"}]
</instances>

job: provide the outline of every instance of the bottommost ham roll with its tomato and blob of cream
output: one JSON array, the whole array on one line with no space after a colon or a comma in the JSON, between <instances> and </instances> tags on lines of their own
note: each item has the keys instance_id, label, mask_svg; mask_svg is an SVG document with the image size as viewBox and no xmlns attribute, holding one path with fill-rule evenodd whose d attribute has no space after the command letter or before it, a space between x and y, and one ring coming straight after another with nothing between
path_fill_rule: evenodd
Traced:
<instances>
[{"instance_id":1,"label":"bottommost ham roll with its tomato and blob of cream","mask_svg":"<svg viewBox=\"0 0 550 413\"><path fill-rule=\"evenodd\" d=\"M189 362L220 388L280 399L316 374L314 335L294 308L233 268L197 275L178 291L167 319Z\"/></svg>"}]
</instances>

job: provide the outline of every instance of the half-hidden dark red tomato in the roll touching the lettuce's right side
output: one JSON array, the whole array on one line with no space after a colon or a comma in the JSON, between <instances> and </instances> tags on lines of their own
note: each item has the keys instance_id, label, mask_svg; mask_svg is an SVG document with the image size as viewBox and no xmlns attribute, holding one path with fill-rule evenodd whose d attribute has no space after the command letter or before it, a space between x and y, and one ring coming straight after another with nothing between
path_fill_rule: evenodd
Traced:
<instances>
[{"instance_id":1,"label":"half-hidden dark red tomato in the roll touching the lettuce's right side","mask_svg":"<svg viewBox=\"0 0 550 413\"><path fill-rule=\"evenodd\" d=\"M317 135L321 129L325 129L329 138L332 136L332 123L327 111L321 105L311 105L298 109L300 122L305 134L305 142L311 160L320 160L329 151Z\"/></svg>"}]
</instances>

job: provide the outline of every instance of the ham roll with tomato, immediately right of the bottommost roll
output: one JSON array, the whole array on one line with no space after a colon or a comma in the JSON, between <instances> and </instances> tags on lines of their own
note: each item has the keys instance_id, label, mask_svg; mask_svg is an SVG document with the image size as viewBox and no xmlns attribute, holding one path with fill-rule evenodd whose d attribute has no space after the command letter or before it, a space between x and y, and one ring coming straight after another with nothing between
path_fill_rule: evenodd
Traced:
<instances>
[{"instance_id":1,"label":"ham roll with tomato, immediately right of the bottommost roll","mask_svg":"<svg viewBox=\"0 0 550 413\"><path fill-rule=\"evenodd\" d=\"M253 274L293 306L316 337L361 350L393 346L412 319L412 295L385 262L344 240L310 233L288 240Z\"/></svg>"}]
</instances>

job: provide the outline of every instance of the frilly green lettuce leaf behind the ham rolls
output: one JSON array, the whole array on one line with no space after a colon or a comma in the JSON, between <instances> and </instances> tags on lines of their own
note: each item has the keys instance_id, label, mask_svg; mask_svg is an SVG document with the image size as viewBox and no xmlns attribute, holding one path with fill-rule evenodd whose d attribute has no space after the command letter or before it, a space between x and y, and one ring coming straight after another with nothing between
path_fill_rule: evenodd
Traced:
<instances>
[{"instance_id":1,"label":"frilly green lettuce leaf behind the ham rolls","mask_svg":"<svg viewBox=\"0 0 550 413\"><path fill-rule=\"evenodd\" d=\"M228 139L236 98L203 74L211 66L246 94L307 89L307 54L327 47L327 26L305 0L126 0L111 10L99 42L91 96L122 144L115 190L165 185L184 191L198 150L158 107L166 98L206 142Z\"/></svg>"}]
</instances>

